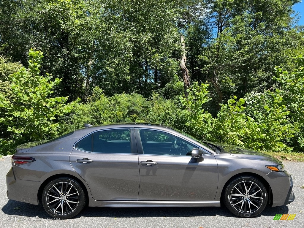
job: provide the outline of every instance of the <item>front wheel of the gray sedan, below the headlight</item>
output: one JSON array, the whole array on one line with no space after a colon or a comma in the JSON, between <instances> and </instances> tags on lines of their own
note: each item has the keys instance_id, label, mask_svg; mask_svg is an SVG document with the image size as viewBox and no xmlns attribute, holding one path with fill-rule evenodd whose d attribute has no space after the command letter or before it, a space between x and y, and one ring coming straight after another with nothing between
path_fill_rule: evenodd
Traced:
<instances>
[{"instance_id":1,"label":"front wheel of the gray sedan, below the headlight","mask_svg":"<svg viewBox=\"0 0 304 228\"><path fill-rule=\"evenodd\" d=\"M224 203L233 214L240 217L259 215L268 202L265 186L255 177L235 178L225 189Z\"/></svg>"}]
</instances>

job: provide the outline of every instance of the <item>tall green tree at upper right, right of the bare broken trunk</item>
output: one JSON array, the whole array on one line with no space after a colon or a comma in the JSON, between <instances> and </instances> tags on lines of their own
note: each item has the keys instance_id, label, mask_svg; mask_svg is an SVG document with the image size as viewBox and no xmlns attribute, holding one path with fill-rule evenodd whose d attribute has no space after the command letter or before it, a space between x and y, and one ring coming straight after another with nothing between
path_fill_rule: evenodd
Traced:
<instances>
[{"instance_id":1,"label":"tall green tree at upper right, right of the bare broken trunk","mask_svg":"<svg viewBox=\"0 0 304 228\"><path fill-rule=\"evenodd\" d=\"M212 107L219 110L218 104L231 95L243 97L273 86L273 66L285 64L288 50L301 40L301 30L292 28L296 2L215 0L207 4L206 24L214 38L198 56L198 67L204 76L201 80L212 85Z\"/></svg>"}]
</instances>

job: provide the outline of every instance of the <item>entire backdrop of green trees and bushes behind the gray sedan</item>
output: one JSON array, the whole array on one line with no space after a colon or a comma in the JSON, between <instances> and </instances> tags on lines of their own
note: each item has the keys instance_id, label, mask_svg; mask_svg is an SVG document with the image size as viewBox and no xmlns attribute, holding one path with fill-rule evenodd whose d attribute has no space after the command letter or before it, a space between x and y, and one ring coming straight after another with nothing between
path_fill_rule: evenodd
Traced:
<instances>
[{"instance_id":1,"label":"entire backdrop of green trees and bushes behind the gray sedan","mask_svg":"<svg viewBox=\"0 0 304 228\"><path fill-rule=\"evenodd\" d=\"M0 154L83 123L134 121L303 151L297 2L2 0Z\"/></svg>"}]
</instances>

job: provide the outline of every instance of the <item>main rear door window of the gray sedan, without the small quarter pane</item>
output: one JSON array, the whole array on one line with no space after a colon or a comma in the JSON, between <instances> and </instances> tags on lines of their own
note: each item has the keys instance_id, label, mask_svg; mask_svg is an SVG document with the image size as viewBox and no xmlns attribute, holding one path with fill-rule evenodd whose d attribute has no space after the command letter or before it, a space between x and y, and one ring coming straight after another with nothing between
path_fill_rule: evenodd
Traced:
<instances>
[{"instance_id":1,"label":"main rear door window of the gray sedan, without the small quarter pane","mask_svg":"<svg viewBox=\"0 0 304 228\"><path fill-rule=\"evenodd\" d=\"M93 153L131 154L130 129L94 132Z\"/></svg>"}]
</instances>

